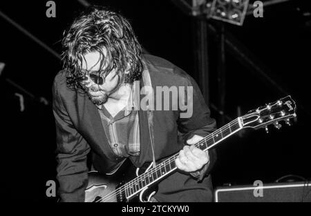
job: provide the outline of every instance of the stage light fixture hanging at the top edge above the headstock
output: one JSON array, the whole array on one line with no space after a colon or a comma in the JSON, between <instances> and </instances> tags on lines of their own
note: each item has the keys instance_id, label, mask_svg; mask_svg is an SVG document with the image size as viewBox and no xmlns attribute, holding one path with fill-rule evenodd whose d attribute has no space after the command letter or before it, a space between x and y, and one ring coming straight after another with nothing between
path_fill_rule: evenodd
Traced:
<instances>
[{"instance_id":1,"label":"stage light fixture hanging at the top edge above the headstock","mask_svg":"<svg viewBox=\"0 0 311 216\"><path fill-rule=\"evenodd\" d=\"M214 0L208 18L243 25L249 0Z\"/></svg>"}]
</instances>

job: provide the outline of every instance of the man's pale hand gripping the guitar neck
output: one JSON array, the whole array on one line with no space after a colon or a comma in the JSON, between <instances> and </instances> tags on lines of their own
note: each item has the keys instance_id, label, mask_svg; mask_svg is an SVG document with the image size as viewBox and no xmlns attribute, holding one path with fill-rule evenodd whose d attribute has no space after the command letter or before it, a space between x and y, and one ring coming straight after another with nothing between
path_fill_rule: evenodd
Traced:
<instances>
[{"instance_id":1,"label":"man's pale hand gripping the guitar neck","mask_svg":"<svg viewBox=\"0 0 311 216\"><path fill-rule=\"evenodd\" d=\"M209 162L209 153L194 146L203 138L199 135L194 135L194 137L187 140L187 144L190 146L184 146L175 161L178 169L188 173L195 172Z\"/></svg>"}]
</instances>

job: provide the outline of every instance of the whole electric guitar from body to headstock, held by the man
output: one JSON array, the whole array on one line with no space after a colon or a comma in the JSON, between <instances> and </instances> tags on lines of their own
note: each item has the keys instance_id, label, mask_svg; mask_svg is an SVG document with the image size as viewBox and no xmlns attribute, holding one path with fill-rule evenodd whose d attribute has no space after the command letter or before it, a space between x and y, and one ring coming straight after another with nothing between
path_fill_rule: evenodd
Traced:
<instances>
[{"instance_id":1,"label":"whole electric guitar from body to headstock, held by the man","mask_svg":"<svg viewBox=\"0 0 311 216\"><path fill-rule=\"evenodd\" d=\"M274 124L279 129L281 128L279 121L285 121L290 125L290 119L294 117L296 117L296 104L290 96L287 96L266 106L250 110L246 115L234 119L195 145L201 150L209 150L243 128L265 128L268 132L267 126ZM129 181L126 179L129 175L125 174L122 168L111 176L90 172L85 202L132 202L137 199L140 202L149 202L156 193L156 183L176 171L175 159L178 155L176 153L154 167L150 164L145 169L137 168L136 172L122 164L129 173L136 174L136 177L133 179L130 177ZM122 181L120 182L119 179Z\"/></svg>"}]
</instances>

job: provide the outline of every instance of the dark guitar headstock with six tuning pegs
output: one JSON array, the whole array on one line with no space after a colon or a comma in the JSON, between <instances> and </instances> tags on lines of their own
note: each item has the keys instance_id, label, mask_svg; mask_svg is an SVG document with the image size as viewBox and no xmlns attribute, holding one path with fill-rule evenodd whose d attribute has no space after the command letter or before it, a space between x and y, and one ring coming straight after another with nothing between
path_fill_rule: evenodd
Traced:
<instances>
[{"instance_id":1,"label":"dark guitar headstock with six tuning pegs","mask_svg":"<svg viewBox=\"0 0 311 216\"><path fill-rule=\"evenodd\" d=\"M296 103L292 97L287 96L267 104L266 106L258 107L256 110L250 110L246 115L241 117L244 128L264 128L267 131L267 126L274 124L276 128L281 128L279 121L285 121L290 125L290 119L296 117Z\"/></svg>"}]
</instances>

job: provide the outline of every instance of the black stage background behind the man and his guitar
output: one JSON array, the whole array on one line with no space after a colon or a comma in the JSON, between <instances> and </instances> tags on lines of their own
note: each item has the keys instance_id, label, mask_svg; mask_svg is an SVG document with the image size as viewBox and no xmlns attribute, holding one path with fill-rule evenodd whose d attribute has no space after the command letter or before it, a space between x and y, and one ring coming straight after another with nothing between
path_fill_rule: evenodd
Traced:
<instances>
[{"instance_id":1,"label":"black stage background behind the man and his guitar","mask_svg":"<svg viewBox=\"0 0 311 216\"><path fill-rule=\"evenodd\" d=\"M194 75L194 18L182 13L171 1L95 1L120 10L128 17L142 46L152 55L175 63ZM251 1L252 2L252 1ZM56 18L46 17L46 1L1 1L0 10L56 52L66 27L79 11L78 1L55 1ZM300 10L297 10L299 8ZM292 95L298 104L293 126L281 130L244 130L217 148L214 186L226 183L253 184L257 179L270 183L284 175L310 178L310 4L306 1L279 3L265 9L263 18L247 16L243 27L225 23L225 29L270 68L269 76ZM303 15L304 14L304 15ZM217 24L217 21L211 21ZM209 95L218 103L216 68L218 40L209 36ZM55 180L55 125L51 86L62 68L59 59L0 17L0 62L6 63L0 77L1 168L4 193L9 199L55 202L46 197L46 181ZM225 114L236 118L285 95L249 72L234 55L226 52ZM37 99L8 83L15 81ZM19 93L25 110L20 111ZM219 120L215 109L211 116ZM221 125L218 125L221 126Z\"/></svg>"}]
</instances>

